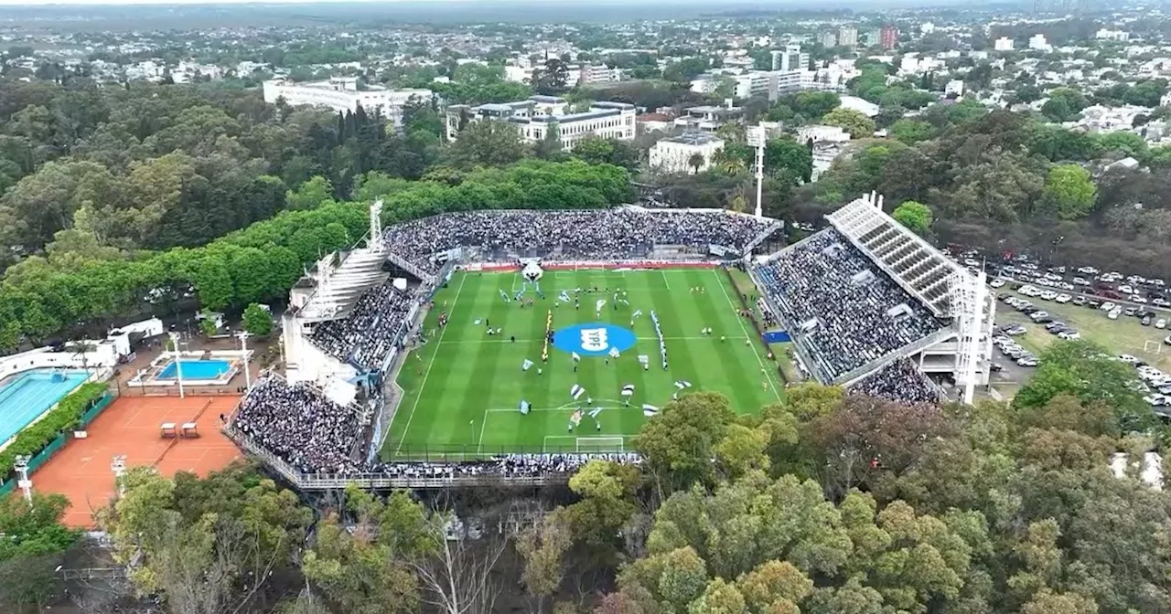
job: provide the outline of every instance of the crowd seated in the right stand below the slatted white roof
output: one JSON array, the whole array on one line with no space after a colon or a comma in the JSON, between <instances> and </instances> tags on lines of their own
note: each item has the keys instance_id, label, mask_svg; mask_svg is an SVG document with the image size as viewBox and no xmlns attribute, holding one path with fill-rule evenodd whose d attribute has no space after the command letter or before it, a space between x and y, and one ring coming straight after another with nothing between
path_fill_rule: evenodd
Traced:
<instances>
[{"instance_id":1,"label":"crowd seated in the right stand below the slatted white roof","mask_svg":"<svg viewBox=\"0 0 1171 614\"><path fill-rule=\"evenodd\" d=\"M782 251L756 272L827 379L944 326L833 228Z\"/></svg>"}]
</instances>

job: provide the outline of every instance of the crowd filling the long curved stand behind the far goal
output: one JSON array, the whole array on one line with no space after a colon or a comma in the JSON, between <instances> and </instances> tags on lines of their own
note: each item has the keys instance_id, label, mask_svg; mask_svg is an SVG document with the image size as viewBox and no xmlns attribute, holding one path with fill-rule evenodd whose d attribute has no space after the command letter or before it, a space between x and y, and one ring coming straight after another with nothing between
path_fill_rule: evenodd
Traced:
<instances>
[{"instance_id":1,"label":"crowd filling the long curved stand behind the far goal","mask_svg":"<svg viewBox=\"0 0 1171 614\"><path fill-rule=\"evenodd\" d=\"M718 244L742 250L774 220L725 212L635 208L445 213L385 230L395 254L434 274L431 256L458 247L563 260L646 257L655 246Z\"/></svg>"}]
</instances>

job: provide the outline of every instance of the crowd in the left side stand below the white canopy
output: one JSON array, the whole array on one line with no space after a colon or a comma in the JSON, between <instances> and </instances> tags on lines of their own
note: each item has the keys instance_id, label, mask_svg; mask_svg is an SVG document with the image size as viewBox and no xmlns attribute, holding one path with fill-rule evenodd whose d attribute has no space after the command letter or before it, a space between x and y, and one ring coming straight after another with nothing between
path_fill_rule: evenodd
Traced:
<instances>
[{"instance_id":1,"label":"crowd in the left side stand below the white canopy","mask_svg":"<svg viewBox=\"0 0 1171 614\"><path fill-rule=\"evenodd\" d=\"M382 368L393 344L408 326L413 299L390 282L365 291L344 318L314 327L311 340L326 353L363 370Z\"/></svg>"}]
</instances>

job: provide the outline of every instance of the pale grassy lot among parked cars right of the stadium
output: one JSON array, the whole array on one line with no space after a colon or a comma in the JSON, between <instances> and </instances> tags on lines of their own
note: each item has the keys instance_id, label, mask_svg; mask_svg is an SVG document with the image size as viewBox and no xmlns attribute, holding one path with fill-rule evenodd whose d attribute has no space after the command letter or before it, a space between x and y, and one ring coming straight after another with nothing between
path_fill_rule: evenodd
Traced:
<instances>
[{"instance_id":1,"label":"pale grassy lot among parked cars right of the stadium","mask_svg":"<svg viewBox=\"0 0 1171 614\"><path fill-rule=\"evenodd\" d=\"M1107 318L1103 311L1077 306L1073 303L1061 304L1016 292L1012 294L1032 301L1035 306L1048 311L1052 318L1077 329L1077 332L1086 340L1094 342L1110 352L1137 356L1163 371L1171 371L1171 347L1163 344L1163 338L1171 333L1171 330L1143 326L1138 323L1138 318L1128 316L1121 316L1112 320ZM1018 343L1030 352L1040 354L1049 344L1060 340L1049 334L1045 330L1045 325L1034 324L1033 320L1009 305L998 304L997 324L1009 323L1023 324L1028 330L1018 337ZM1144 347L1157 347L1159 353L1146 352Z\"/></svg>"}]
</instances>

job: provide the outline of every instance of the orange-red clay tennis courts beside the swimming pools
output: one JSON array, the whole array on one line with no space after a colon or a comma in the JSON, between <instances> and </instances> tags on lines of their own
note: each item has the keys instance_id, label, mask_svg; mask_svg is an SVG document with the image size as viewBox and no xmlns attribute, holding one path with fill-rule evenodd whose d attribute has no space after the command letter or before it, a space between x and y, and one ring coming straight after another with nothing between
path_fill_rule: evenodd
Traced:
<instances>
[{"instance_id":1,"label":"orange-red clay tennis courts beside the swimming pools","mask_svg":"<svg viewBox=\"0 0 1171 614\"><path fill-rule=\"evenodd\" d=\"M93 423L85 439L70 439L49 462L33 474L33 489L69 497L64 523L88 529L93 511L114 495L116 455L126 456L126 468L153 465L172 476L193 471L200 476L241 456L225 437L219 415L228 414L239 396L119 396ZM198 437L163 437L164 422L198 425Z\"/></svg>"}]
</instances>

